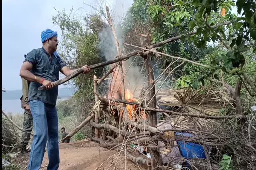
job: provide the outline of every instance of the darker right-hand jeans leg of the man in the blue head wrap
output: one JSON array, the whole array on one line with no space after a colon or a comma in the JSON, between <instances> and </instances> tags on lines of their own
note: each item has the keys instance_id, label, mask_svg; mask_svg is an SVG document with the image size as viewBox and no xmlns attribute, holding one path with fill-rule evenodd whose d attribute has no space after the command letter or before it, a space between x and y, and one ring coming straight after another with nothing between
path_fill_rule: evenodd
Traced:
<instances>
[{"instance_id":1,"label":"darker right-hand jeans leg of the man in the blue head wrap","mask_svg":"<svg viewBox=\"0 0 256 170\"><path fill-rule=\"evenodd\" d=\"M59 133L58 116L55 105L46 105L46 117L48 124L48 144L47 152L49 164L47 170L57 170L59 168Z\"/></svg>"}]
</instances>

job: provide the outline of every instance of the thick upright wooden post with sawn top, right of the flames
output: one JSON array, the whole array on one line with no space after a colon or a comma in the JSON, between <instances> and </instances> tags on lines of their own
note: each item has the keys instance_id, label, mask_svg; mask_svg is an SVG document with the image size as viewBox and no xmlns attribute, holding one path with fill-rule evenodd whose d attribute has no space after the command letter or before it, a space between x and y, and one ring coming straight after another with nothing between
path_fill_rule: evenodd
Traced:
<instances>
[{"instance_id":1,"label":"thick upright wooden post with sawn top, right of the flames","mask_svg":"<svg viewBox=\"0 0 256 170\"><path fill-rule=\"evenodd\" d=\"M140 43L141 43L142 47L148 46L149 45L148 36L145 34L142 34L140 36ZM156 108L156 97L154 96L156 93L155 78L154 78L154 73L152 70L153 67L152 67L152 63L151 63L150 54L144 55L142 57L144 58L145 67L146 67L146 71L147 71L147 75L148 75L148 88L149 88L149 90L152 88L149 91L148 98L149 98L149 100L151 98L153 98L153 99L148 106ZM152 126L152 127L157 126L156 112L154 112L154 111L149 112L149 122L150 122L150 126Z\"/></svg>"}]
</instances>

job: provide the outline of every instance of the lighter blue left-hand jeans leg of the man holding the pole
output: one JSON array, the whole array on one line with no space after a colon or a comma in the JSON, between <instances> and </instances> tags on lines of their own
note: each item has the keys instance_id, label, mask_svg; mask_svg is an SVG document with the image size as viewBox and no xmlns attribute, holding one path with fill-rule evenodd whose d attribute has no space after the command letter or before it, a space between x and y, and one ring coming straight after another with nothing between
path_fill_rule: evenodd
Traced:
<instances>
[{"instance_id":1,"label":"lighter blue left-hand jeans leg of the man holding the pole","mask_svg":"<svg viewBox=\"0 0 256 170\"><path fill-rule=\"evenodd\" d=\"M29 106L33 116L35 134L27 170L39 170L43 161L48 134L46 110L45 104L40 100L30 101Z\"/></svg>"}]
</instances>

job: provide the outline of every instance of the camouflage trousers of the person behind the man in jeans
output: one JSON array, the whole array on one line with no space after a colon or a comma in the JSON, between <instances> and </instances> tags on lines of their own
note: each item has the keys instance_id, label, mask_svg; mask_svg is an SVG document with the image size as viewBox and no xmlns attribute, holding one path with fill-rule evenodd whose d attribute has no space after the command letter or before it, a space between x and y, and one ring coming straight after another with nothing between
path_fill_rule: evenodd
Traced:
<instances>
[{"instance_id":1,"label":"camouflage trousers of the person behind the man in jeans","mask_svg":"<svg viewBox=\"0 0 256 170\"><path fill-rule=\"evenodd\" d=\"M23 121L23 130L21 135L21 146L27 147L30 140L30 135L33 128L33 118L31 112L25 110L24 112L24 121Z\"/></svg>"}]
</instances>

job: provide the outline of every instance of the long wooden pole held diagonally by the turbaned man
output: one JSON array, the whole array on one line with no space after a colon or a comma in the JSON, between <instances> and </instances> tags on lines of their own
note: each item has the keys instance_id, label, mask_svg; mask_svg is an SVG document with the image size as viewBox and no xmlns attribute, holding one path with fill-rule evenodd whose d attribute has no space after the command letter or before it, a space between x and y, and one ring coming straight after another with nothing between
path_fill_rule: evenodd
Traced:
<instances>
[{"instance_id":1,"label":"long wooden pole held diagonally by the turbaned man","mask_svg":"<svg viewBox=\"0 0 256 170\"><path fill-rule=\"evenodd\" d=\"M228 25L228 24L231 24L231 23L233 23L233 22L236 22L236 20L227 21L227 22L225 22L225 23L223 23L223 24L217 24L217 25L215 25L215 26L211 26L211 28L216 28L216 27L219 27L219 26L221 26L221 25ZM190 35L190 36L191 36L191 35L194 35L194 34L196 34L196 33L197 33L197 31L192 31L192 32L188 32L187 34L183 34L183 35L180 35L180 36L172 37L172 38L167 39L167 40L164 40L164 41L162 41L162 42L153 44L153 45L151 45L151 46L150 46L149 48L147 48L147 49L152 49L152 48L154 48L154 47L157 47L157 46L160 46L160 45L169 43L169 42L173 42L173 41L179 40L180 38L185 37L185 36L187 36L187 35ZM156 51L153 51L153 52L156 52ZM130 52L130 53L128 53L128 54L126 54L126 55L124 55L124 56L122 56L122 57L119 57L119 58L116 58L116 59L113 59L113 60L109 60L109 61L105 61L105 62L102 62L102 63L98 63L98 64L93 64L93 65L90 65L90 66L88 66L88 67L89 67L90 69L100 68L100 67L103 67L103 66L106 66L106 65L109 65L109 64L116 63L116 62L118 62L118 61L122 61L122 60L128 59L128 58L130 58L130 57L132 57L132 56L134 56L134 55L136 55L136 54L142 54L142 53L143 53L143 51L136 50L136 51ZM118 56L116 56L116 57L118 57ZM76 71L74 71L73 73L71 73L71 74L67 75L66 77L64 77L63 79L54 81L54 82L53 82L53 85L54 85L54 86L57 86L57 85L63 84L63 83L65 83L65 82L67 82L68 80L70 80L70 79L72 79L72 78L78 76L78 75L81 74L83 71L84 71L83 68L79 68L79 69L77 69ZM45 90L45 89L46 89L46 88L45 88L44 86L40 86L40 87L38 88L38 90Z\"/></svg>"}]
</instances>

